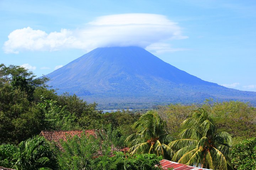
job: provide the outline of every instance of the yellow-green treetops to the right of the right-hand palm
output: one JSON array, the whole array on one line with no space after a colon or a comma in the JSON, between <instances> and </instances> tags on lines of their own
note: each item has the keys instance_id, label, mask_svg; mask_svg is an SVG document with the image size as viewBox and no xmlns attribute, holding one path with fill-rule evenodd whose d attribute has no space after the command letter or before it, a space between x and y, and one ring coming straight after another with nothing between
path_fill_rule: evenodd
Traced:
<instances>
[{"instance_id":1,"label":"yellow-green treetops to the right of the right-hand palm","mask_svg":"<svg viewBox=\"0 0 256 170\"><path fill-rule=\"evenodd\" d=\"M218 131L225 131L234 137L234 142L240 138L256 136L255 108L240 101L213 102L204 104ZM238 138L238 140L236 140Z\"/></svg>"}]
</instances>

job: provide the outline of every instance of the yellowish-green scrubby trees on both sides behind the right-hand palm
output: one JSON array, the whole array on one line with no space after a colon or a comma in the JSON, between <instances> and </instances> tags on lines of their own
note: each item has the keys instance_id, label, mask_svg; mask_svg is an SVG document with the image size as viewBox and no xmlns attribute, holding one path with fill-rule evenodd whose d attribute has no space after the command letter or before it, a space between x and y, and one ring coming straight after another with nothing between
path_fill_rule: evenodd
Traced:
<instances>
[{"instance_id":1,"label":"yellowish-green scrubby trees on both sides behind the right-hand palm","mask_svg":"<svg viewBox=\"0 0 256 170\"><path fill-rule=\"evenodd\" d=\"M225 131L232 135L234 143L256 136L256 108L251 107L249 103L213 102L212 99L207 99L201 106L170 104L160 106L157 111L166 121L169 133L178 137L178 133L182 130L181 123L186 120L191 111L199 107L209 113L217 131Z\"/></svg>"}]
</instances>

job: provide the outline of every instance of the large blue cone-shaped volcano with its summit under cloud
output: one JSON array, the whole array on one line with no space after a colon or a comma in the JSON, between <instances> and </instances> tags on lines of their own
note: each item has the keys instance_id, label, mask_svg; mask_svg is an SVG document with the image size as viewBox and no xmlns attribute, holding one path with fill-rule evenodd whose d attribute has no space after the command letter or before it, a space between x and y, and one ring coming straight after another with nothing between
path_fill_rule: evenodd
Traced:
<instances>
[{"instance_id":1,"label":"large blue cone-shaped volcano with its summit under cloud","mask_svg":"<svg viewBox=\"0 0 256 170\"><path fill-rule=\"evenodd\" d=\"M204 81L133 46L97 48L46 77L58 94L76 94L100 108L202 103L209 97L256 104L256 92Z\"/></svg>"}]
</instances>

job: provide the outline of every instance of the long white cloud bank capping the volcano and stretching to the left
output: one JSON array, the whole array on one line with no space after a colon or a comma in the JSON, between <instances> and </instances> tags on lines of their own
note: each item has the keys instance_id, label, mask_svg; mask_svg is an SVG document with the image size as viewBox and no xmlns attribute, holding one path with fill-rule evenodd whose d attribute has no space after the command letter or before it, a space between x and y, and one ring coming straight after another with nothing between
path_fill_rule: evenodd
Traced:
<instances>
[{"instance_id":1,"label":"long white cloud bank capping the volcano and stretching to the left","mask_svg":"<svg viewBox=\"0 0 256 170\"><path fill-rule=\"evenodd\" d=\"M9 40L4 43L4 51L6 53L62 49L90 51L96 47L108 46L153 48L154 43L188 38L182 35L181 30L177 23L163 15L145 13L108 15L98 17L95 21L85 24L84 28L76 30L62 29L60 32L48 34L30 27L16 29L9 34ZM176 51L180 50L182 49L176 49ZM169 47L167 51L175 51L175 49Z\"/></svg>"}]
</instances>

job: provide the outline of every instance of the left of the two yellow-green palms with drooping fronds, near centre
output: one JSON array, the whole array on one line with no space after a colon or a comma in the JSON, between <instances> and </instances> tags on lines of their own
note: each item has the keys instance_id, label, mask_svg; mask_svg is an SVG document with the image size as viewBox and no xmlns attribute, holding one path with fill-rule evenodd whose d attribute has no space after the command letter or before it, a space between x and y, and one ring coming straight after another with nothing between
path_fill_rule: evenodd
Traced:
<instances>
[{"instance_id":1,"label":"left of the two yellow-green palms with drooping fronds, near centre","mask_svg":"<svg viewBox=\"0 0 256 170\"><path fill-rule=\"evenodd\" d=\"M174 152L167 146L173 138L167 134L166 122L156 111L149 111L142 115L134 124L137 133L126 138L129 142L131 154L155 153L163 157L170 157Z\"/></svg>"}]
</instances>

